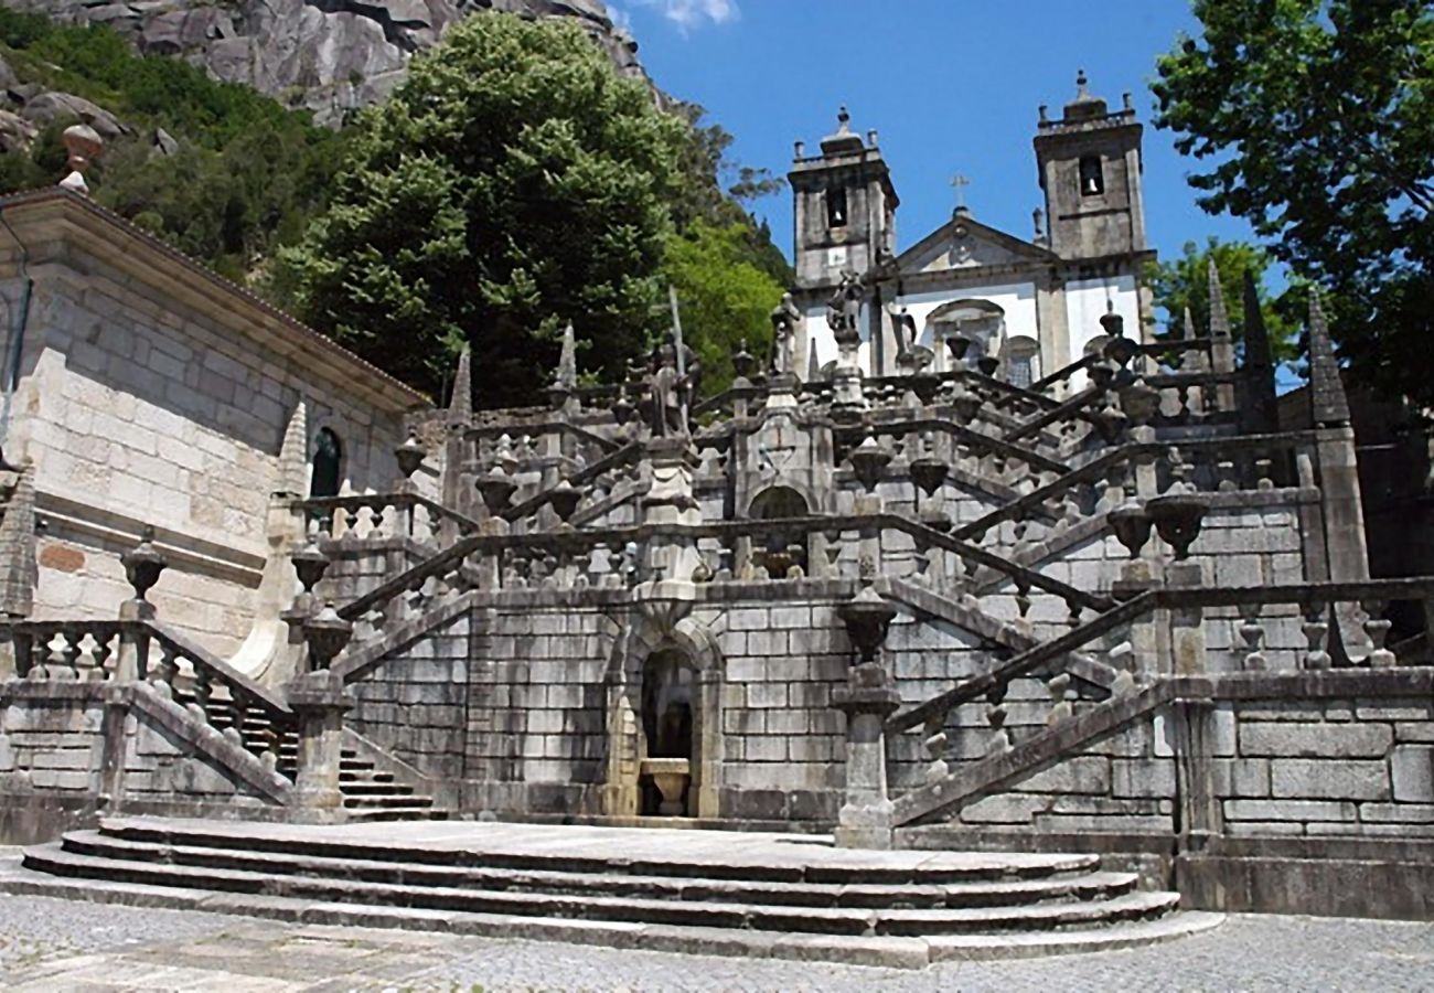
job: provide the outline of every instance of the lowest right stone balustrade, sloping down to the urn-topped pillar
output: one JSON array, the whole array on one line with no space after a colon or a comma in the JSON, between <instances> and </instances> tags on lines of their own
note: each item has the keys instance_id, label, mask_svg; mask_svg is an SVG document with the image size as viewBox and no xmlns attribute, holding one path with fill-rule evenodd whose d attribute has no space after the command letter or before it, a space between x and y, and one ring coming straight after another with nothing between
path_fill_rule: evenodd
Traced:
<instances>
[{"instance_id":1,"label":"lowest right stone balustrade, sloping down to the urn-topped pillar","mask_svg":"<svg viewBox=\"0 0 1434 993\"><path fill-rule=\"evenodd\" d=\"M958 799L949 788L939 788L946 778L946 726L956 707L979 705L988 725L988 752L1001 753L1021 742L1012 740L1007 729L1004 700L1011 683L1024 677L1041 677L1050 693L1050 713L1031 733L1057 728L1076 715L1077 697L1071 687L1073 674L1063 660L1073 653L1104 654L1116 669L1116 684L1110 697L1130 696L1152 679L1172 674L1207 674L1219 672L1212 656L1219 653L1206 646L1205 631L1219 623L1206 614L1217 608L1235 608L1239 614L1239 647L1229 654L1229 672L1321 672L1328 669L1392 669L1400 659L1387 647L1391 621L1387 607L1394 601L1414 601L1427 616L1434 606L1434 577L1408 580L1371 580L1365 583L1311 583L1299 585L1263 585L1249 588L1156 588L1113 606L1070 631L1043 641L998 663L989 672L956 683L915 706L898 710L886 719L888 736L921 729L929 766L921 799L906 802L909 816L925 816L934 809ZM1164 623L1169 636L1134 630L1139 624ZM1298 623L1302 644L1283 644L1268 650L1268 630L1275 623L1286 629ZM1358 631L1344 630L1358 626ZM1348 637L1354 634L1354 637ZM1116 637L1111 637L1116 636ZM1119 641L1116 639L1120 639ZM1136 644L1167 644L1172 657L1146 659ZM1110 646L1110 647L1103 647ZM1183 657L1182 657L1183 656ZM1048 758L1048 756L1047 756ZM903 822L903 821L899 821Z\"/></svg>"}]
</instances>

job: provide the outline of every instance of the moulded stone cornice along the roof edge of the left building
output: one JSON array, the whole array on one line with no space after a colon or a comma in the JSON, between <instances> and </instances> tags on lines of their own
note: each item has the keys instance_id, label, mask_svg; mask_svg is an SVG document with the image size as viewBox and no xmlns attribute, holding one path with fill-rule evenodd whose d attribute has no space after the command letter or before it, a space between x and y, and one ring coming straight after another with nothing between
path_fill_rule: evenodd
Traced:
<instances>
[{"instance_id":1,"label":"moulded stone cornice along the roof edge of the left building","mask_svg":"<svg viewBox=\"0 0 1434 993\"><path fill-rule=\"evenodd\" d=\"M60 188L17 194L0 198L0 217L14 235L0 237L0 244L9 251L19 238L32 267L79 265L83 271L86 260L100 263L377 410L403 413L429 403L377 366L86 197Z\"/></svg>"}]
</instances>

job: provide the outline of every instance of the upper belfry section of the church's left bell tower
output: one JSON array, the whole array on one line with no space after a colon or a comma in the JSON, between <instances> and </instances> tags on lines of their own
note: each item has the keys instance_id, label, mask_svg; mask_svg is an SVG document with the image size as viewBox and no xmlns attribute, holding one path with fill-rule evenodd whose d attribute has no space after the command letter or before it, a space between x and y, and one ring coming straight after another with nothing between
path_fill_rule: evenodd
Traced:
<instances>
[{"instance_id":1,"label":"upper belfry section of the church's left bell tower","mask_svg":"<svg viewBox=\"0 0 1434 993\"><path fill-rule=\"evenodd\" d=\"M807 158L797 142L787 174L799 290L833 287L842 273L863 276L895 254L899 201L876 132L862 141L845 106L836 119L820 155Z\"/></svg>"}]
</instances>

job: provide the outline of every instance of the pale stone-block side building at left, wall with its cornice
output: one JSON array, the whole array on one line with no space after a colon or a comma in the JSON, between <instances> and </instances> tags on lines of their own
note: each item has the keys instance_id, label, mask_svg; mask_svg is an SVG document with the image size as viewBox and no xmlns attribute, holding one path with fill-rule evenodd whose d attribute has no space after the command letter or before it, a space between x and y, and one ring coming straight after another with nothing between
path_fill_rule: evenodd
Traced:
<instances>
[{"instance_id":1,"label":"pale stone-block side building at left, wall with its cornice","mask_svg":"<svg viewBox=\"0 0 1434 993\"><path fill-rule=\"evenodd\" d=\"M116 557L152 525L171 561L161 616L231 653L254 621L270 494L307 485L280 463L300 402L304 435L336 430L344 486L361 492L391 486L404 408L422 397L377 370L356 382L354 357L82 198L6 215L34 281L0 347L23 326L4 453L34 463L36 616L113 617L129 596ZM7 243L0 293L19 301L22 283Z\"/></svg>"}]
</instances>

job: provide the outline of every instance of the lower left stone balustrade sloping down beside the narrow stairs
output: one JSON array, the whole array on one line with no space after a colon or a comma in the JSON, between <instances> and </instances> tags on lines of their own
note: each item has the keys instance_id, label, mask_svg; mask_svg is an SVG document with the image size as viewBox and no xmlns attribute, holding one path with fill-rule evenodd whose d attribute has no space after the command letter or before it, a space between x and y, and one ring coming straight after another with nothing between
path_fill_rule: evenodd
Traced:
<instances>
[{"instance_id":1,"label":"lower left stone balustrade sloping down beside the narrow stairs","mask_svg":"<svg viewBox=\"0 0 1434 993\"><path fill-rule=\"evenodd\" d=\"M191 716L293 778L288 705L182 634L152 620L16 621L3 626L24 680L143 682Z\"/></svg>"}]
</instances>

